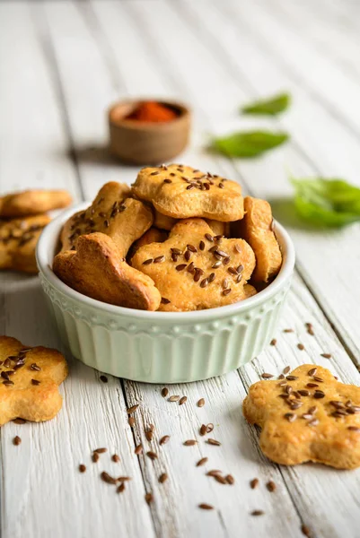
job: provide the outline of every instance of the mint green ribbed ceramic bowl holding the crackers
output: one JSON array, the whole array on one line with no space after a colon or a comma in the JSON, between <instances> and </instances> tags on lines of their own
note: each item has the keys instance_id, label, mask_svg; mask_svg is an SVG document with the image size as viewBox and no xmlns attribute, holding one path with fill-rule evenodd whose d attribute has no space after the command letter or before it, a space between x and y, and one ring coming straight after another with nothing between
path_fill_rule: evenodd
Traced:
<instances>
[{"instance_id":1,"label":"mint green ribbed ceramic bowl holding the crackers","mask_svg":"<svg viewBox=\"0 0 360 538\"><path fill-rule=\"evenodd\" d=\"M284 261L264 291L226 307L194 312L147 312L90 299L53 273L60 230L80 204L42 232L40 282L62 340L88 366L147 383L181 383L220 376L256 357L277 329L294 272L294 246L280 224Z\"/></svg>"}]
</instances>

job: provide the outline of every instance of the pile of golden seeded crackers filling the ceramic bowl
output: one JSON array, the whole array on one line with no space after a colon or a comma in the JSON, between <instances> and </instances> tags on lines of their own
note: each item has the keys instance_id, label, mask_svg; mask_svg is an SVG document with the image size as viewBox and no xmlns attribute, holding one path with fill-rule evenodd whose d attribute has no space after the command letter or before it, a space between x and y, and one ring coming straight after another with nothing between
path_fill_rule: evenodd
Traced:
<instances>
[{"instance_id":1,"label":"pile of golden seeded crackers filling the ceramic bowl","mask_svg":"<svg viewBox=\"0 0 360 538\"><path fill-rule=\"evenodd\" d=\"M268 202L188 166L110 182L61 231L53 270L68 286L127 308L190 311L247 299L280 270Z\"/></svg>"}]
</instances>

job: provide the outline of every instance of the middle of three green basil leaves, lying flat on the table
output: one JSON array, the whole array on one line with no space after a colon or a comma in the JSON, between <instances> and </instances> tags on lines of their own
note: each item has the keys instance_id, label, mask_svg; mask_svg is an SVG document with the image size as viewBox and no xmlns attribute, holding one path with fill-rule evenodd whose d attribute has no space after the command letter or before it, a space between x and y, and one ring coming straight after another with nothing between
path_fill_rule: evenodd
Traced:
<instances>
[{"instance_id":1,"label":"middle of three green basil leaves, lying flat on the table","mask_svg":"<svg viewBox=\"0 0 360 538\"><path fill-rule=\"evenodd\" d=\"M215 138L213 147L228 157L258 157L289 139L287 133L270 131L244 131L222 138Z\"/></svg>"}]
</instances>

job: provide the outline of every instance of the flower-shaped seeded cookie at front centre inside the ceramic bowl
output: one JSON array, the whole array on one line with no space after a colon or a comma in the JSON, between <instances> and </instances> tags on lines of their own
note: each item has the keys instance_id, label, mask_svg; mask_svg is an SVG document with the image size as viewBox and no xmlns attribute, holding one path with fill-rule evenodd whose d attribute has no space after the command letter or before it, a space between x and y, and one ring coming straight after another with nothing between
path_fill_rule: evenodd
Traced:
<instances>
[{"instance_id":1,"label":"flower-shaped seeded cookie at front centre inside the ceramic bowl","mask_svg":"<svg viewBox=\"0 0 360 538\"><path fill-rule=\"evenodd\" d=\"M250 246L214 237L202 219L179 221L169 239L139 248L131 264L154 280L162 295L159 310L221 307L256 292L244 286L255 266Z\"/></svg>"}]
</instances>

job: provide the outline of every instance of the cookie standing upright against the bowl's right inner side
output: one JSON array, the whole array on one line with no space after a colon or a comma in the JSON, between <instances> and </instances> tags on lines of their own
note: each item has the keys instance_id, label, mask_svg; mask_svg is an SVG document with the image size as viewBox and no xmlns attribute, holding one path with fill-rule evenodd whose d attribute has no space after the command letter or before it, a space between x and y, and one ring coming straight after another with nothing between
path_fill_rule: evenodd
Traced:
<instances>
[{"instance_id":1,"label":"cookie standing upright against the bowl's right inner side","mask_svg":"<svg viewBox=\"0 0 360 538\"><path fill-rule=\"evenodd\" d=\"M237 237L248 241L255 252L256 267L253 282L268 282L280 271L282 256L273 231L271 206L266 200L244 198L244 218L233 224Z\"/></svg>"}]
</instances>

